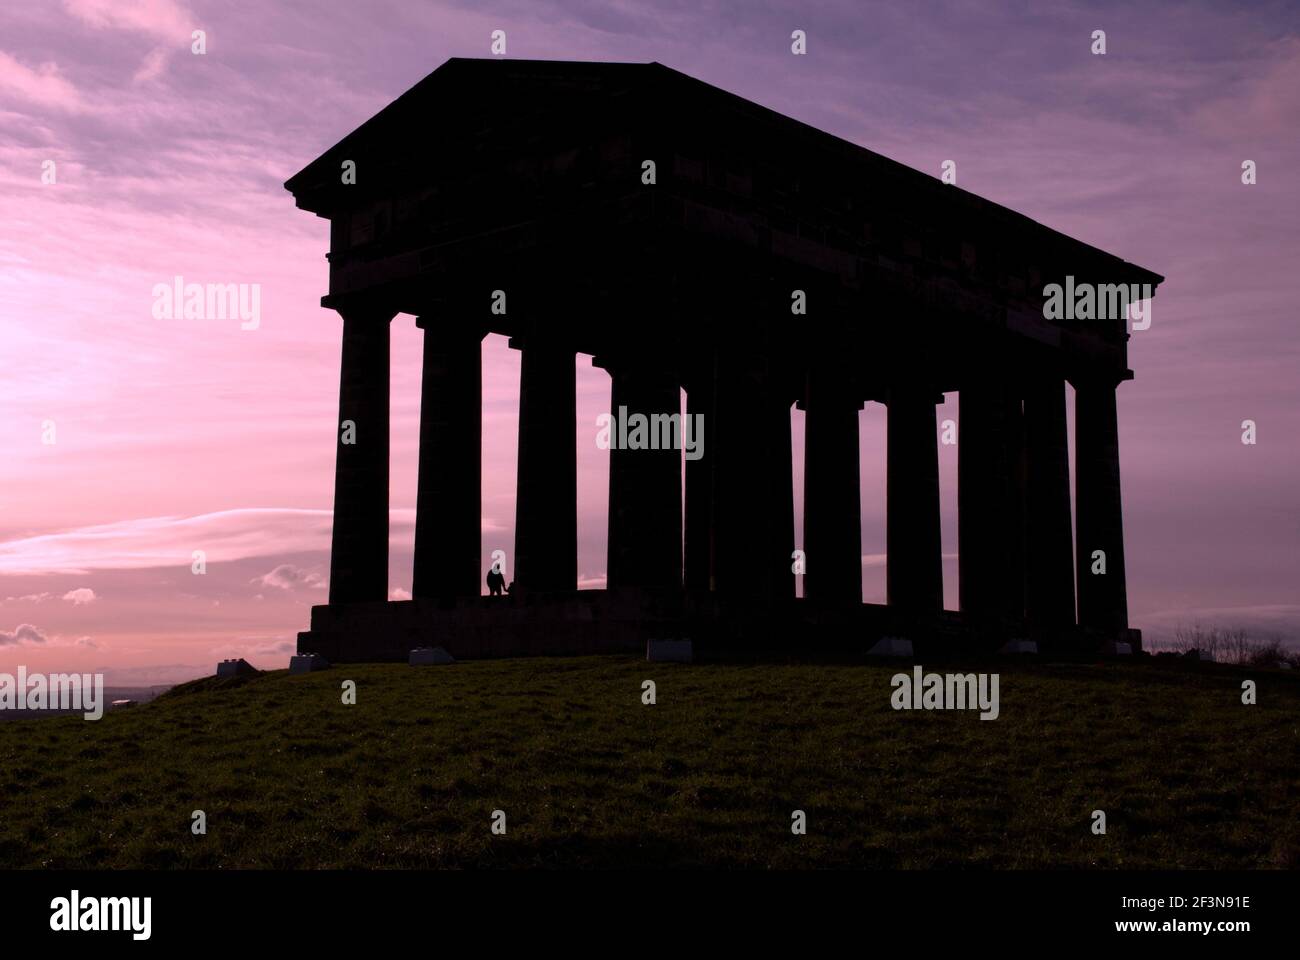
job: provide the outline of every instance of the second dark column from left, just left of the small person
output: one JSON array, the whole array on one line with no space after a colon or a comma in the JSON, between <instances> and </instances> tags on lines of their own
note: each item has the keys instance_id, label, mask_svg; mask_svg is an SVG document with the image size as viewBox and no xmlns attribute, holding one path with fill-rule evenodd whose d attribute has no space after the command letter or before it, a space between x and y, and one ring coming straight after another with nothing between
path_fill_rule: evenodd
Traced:
<instances>
[{"instance_id":1,"label":"second dark column from left, just left of the small person","mask_svg":"<svg viewBox=\"0 0 1300 960\"><path fill-rule=\"evenodd\" d=\"M482 514L482 338L460 317L420 317L420 477L415 597L477 597Z\"/></svg>"}]
</instances>

